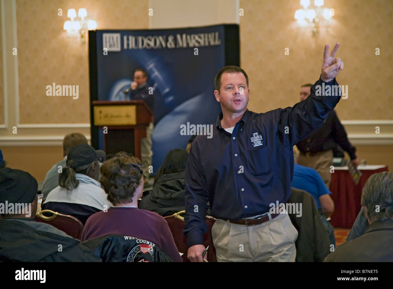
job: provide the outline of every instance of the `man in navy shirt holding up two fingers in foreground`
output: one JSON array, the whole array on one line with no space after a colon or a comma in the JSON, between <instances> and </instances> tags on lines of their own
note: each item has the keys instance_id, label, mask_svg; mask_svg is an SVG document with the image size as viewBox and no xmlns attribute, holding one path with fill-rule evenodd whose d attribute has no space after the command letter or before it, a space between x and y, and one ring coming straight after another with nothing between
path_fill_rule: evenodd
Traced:
<instances>
[{"instance_id":1,"label":"man in navy shirt holding up two fingers in foreground","mask_svg":"<svg viewBox=\"0 0 393 289\"><path fill-rule=\"evenodd\" d=\"M290 196L292 147L318 129L340 100L340 92L331 89L344 68L335 58L339 46L329 56L325 45L322 73L309 98L266 113L247 109L244 70L226 66L219 71L214 94L222 112L209 138L196 136L185 170L183 233L190 261L203 261L208 202L217 218L212 237L218 261L295 260L298 232L287 214L270 209Z\"/></svg>"}]
</instances>

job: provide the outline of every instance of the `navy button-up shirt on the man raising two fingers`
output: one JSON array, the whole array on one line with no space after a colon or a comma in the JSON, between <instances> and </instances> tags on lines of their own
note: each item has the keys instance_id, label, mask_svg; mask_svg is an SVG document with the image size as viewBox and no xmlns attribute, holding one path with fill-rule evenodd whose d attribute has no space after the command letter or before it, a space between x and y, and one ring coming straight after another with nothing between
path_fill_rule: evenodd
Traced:
<instances>
[{"instance_id":1,"label":"navy button-up shirt on the man raising two fingers","mask_svg":"<svg viewBox=\"0 0 393 289\"><path fill-rule=\"evenodd\" d=\"M185 228L188 247L203 244L207 202L211 215L239 219L264 214L291 193L293 146L318 129L340 96L310 96L285 109L246 110L232 134L222 129L220 112L213 135L196 136L185 169ZM336 79L325 83L338 85Z\"/></svg>"}]
</instances>

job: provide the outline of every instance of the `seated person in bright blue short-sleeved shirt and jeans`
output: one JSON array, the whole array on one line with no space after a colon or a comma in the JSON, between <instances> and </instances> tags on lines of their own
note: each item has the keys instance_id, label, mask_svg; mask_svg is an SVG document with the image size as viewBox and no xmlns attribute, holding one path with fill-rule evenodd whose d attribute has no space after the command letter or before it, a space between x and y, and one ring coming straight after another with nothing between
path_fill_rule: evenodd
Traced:
<instances>
[{"instance_id":1,"label":"seated person in bright blue short-sleeved shirt and jeans","mask_svg":"<svg viewBox=\"0 0 393 289\"><path fill-rule=\"evenodd\" d=\"M307 191L307 193L310 193L314 197L323 226L327 234L329 234L331 244L336 245L334 228L327 219L334 212L334 202L330 197L331 192L323 182L321 175L315 169L297 164L298 157L299 150L294 146L294 178L291 187Z\"/></svg>"}]
</instances>

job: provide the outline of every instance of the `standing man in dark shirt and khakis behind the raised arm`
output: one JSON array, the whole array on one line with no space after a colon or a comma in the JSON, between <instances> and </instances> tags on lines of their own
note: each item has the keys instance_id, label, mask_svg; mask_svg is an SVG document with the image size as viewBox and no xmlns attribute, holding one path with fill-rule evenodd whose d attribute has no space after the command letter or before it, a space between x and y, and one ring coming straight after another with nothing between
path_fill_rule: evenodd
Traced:
<instances>
[{"instance_id":1,"label":"standing man in dark shirt and khakis behind the raised arm","mask_svg":"<svg viewBox=\"0 0 393 289\"><path fill-rule=\"evenodd\" d=\"M311 87L312 84L302 85L301 101L310 95ZM328 189L332 180L330 166L333 165L333 149L336 145L340 145L349 154L351 163L356 168L359 165L356 149L349 142L347 133L334 110L329 112L320 129L296 144L300 151L298 164L318 171Z\"/></svg>"}]
</instances>

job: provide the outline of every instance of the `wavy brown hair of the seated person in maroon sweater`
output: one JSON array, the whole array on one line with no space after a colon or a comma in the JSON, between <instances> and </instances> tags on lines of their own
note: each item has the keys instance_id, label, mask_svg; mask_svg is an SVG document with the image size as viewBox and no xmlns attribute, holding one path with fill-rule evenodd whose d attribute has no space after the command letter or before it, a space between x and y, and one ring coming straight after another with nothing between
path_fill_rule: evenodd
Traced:
<instances>
[{"instance_id":1,"label":"wavy brown hair of the seated person in maroon sweater","mask_svg":"<svg viewBox=\"0 0 393 289\"><path fill-rule=\"evenodd\" d=\"M141 184L141 161L124 151L105 160L100 168L101 187L114 206L132 202L136 188Z\"/></svg>"}]
</instances>

